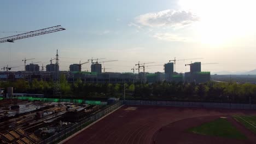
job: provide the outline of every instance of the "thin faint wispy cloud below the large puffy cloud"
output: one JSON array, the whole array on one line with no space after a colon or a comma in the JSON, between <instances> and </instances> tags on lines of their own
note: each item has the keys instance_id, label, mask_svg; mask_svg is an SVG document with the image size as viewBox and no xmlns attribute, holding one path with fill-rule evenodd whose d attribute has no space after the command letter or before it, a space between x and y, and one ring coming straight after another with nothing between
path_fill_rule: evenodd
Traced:
<instances>
[{"instance_id":1,"label":"thin faint wispy cloud below the large puffy cloud","mask_svg":"<svg viewBox=\"0 0 256 144\"><path fill-rule=\"evenodd\" d=\"M171 33L155 33L153 38L166 41L191 41L189 38L179 37L178 35Z\"/></svg>"}]
</instances>

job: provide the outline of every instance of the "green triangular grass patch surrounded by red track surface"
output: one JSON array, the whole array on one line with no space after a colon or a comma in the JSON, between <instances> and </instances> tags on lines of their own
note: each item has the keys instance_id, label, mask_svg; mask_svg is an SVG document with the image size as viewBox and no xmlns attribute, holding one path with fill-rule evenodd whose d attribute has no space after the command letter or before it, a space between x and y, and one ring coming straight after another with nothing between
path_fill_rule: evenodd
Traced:
<instances>
[{"instance_id":1,"label":"green triangular grass patch surrounded by red track surface","mask_svg":"<svg viewBox=\"0 0 256 144\"><path fill-rule=\"evenodd\" d=\"M188 129L188 131L200 135L220 136L238 140L247 139L245 135L225 118L218 118L212 122L203 123L199 127Z\"/></svg>"}]
</instances>

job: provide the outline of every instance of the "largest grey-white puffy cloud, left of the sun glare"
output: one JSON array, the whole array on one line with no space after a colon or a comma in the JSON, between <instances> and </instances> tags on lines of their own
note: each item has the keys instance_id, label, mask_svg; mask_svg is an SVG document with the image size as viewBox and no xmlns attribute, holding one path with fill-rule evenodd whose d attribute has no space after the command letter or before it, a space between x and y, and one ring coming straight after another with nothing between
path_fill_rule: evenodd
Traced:
<instances>
[{"instance_id":1,"label":"largest grey-white puffy cloud, left of the sun glare","mask_svg":"<svg viewBox=\"0 0 256 144\"><path fill-rule=\"evenodd\" d=\"M149 27L169 27L169 26L185 26L195 21L199 21L199 17L191 13L190 11L184 10L171 10L167 9L159 11L158 13L147 13L135 17L136 23L141 26ZM136 26L135 23L130 23L131 26ZM139 26L139 27L141 27Z\"/></svg>"}]
</instances>

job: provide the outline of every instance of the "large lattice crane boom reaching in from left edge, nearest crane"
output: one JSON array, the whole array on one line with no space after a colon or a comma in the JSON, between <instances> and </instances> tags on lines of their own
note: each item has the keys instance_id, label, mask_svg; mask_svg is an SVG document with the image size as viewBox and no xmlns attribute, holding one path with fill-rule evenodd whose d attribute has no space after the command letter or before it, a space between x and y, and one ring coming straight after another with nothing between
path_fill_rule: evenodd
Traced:
<instances>
[{"instance_id":1,"label":"large lattice crane boom reaching in from left edge, nearest crane","mask_svg":"<svg viewBox=\"0 0 256 144\"><path fill-rule=\"evenodd\" d=\"M61 27L61 25L54 26L54 27L48 27L48 28L44 28L44 29L39 29L37 31L31 31L31 32L27 32L27 33L13 35L10 37L1 38L0 43L6 43L6 42L14 43L14 40L35 37L37 35L54 33L54 32L63 31L63 30L65 30L65 28Z\"/></svg>"}]
</instances>

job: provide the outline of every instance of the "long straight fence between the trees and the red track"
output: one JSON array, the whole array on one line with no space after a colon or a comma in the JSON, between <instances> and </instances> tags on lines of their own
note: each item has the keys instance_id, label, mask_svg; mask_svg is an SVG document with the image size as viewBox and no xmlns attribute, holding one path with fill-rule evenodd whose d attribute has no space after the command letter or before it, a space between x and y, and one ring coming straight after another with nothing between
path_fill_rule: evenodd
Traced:
<instances>
[{"instance_id":1,"label":"long straight fence between the trees and the red track","mask_svg":"<svg viewBox=\"0 0 256 144\"><path fill-rule=\"evenodd\" d=\"M181 101L155 101L155 100L125 100L126 105L159 105L179 107L206 107L223 109L256 109L255 104L232 104L232 103L201 103Z\"/></svg>"}]
</instances>

